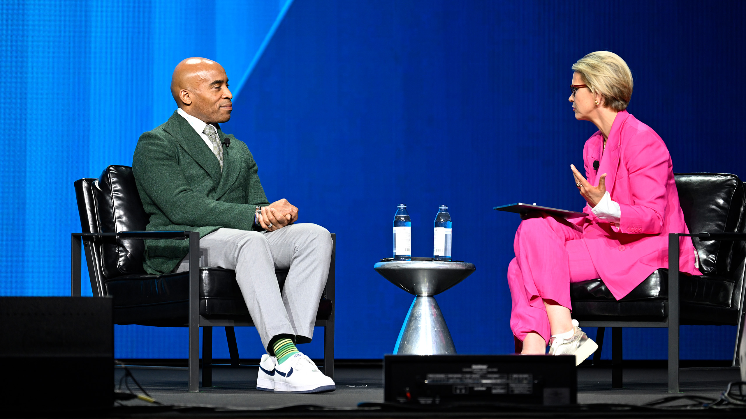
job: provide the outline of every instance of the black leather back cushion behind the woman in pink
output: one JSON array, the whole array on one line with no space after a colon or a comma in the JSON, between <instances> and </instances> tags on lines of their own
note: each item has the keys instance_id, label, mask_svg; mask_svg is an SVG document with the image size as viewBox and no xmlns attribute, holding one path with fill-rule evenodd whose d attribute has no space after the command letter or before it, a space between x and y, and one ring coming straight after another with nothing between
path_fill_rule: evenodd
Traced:
<instances>
[{"instance_id":1,"label":"black leather back cushion behind the woman in pink","mask_svg":"<svg viewBox=\"0 0 746 419\"><path fill-rule=\"evenodd\" d=\"M745 204L743 184L735 174L677 173L679 201L690 233L736 233ZM703 274L730 271L733 242L692 237Z\"/></svg>"}]
</instances>

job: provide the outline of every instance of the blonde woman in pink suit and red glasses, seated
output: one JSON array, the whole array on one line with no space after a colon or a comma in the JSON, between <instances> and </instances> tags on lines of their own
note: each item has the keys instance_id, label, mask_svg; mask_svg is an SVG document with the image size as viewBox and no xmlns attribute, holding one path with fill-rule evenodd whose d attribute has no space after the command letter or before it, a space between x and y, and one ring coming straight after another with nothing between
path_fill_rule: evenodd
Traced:
<instances>
[{"instance_id":1,"label":"blonde woman in pink suit and red glasses, seated","mask_svg":"<svg viewBox=\"0 0 746 419\"><path fill-rule=\"evenodd\" d=\"M585 218L567 221L531 213L515 233L508 267L510 327L516 352L575 355L580 364L598 345L571 318L570 283L601 278L618 300L653 271L668 267L668 233L689 233L679 205L671 156L651 127L630 113L632 73L609 51L572 66L575 119L598 131L583 148L585 176L570 166L586 199ZM700 274L689 237L680 269Z\"/></svg>"}]
</instances>

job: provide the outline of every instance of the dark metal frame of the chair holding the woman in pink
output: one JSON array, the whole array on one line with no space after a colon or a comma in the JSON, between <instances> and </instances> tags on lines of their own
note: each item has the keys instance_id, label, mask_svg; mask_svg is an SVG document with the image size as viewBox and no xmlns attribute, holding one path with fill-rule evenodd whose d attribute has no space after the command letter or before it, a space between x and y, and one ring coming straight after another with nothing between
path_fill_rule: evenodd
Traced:
<instances>
[{"instance_id":1,"label":"dark metal frame of the chair holding the woman in pink","mask_svg":"<svg viewBox=\"0 0 746 419\"><path fill-rule=\"evenodd\" d=\"M666 327L668 328L668 392L679 393L679 252L680 237L700 237L718 241L746 241L746 233L668 233L668 317L664 321L578 321L581 327L598 327L597 341L603 343L604 327L612 328L612 388L622 387L621 328L622 327ZM737 365L739 342L743 333L746 281L742 281L739 303L738 334L733 351L733 367ZM601 357L601 344L593 356L594 362Z\"/></svg>"}]
</instances>

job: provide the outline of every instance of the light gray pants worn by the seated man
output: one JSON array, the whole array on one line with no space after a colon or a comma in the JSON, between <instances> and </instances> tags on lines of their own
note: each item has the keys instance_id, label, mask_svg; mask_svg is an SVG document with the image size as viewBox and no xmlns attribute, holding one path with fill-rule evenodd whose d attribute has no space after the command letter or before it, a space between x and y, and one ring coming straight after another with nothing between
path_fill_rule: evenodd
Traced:
<instances>
[{"instance_id":1,"label":"light gray pants worn by the seated man","mask_svg":"<svg viewBox=\"0 0 746 419\"><path fill-rule=\"evenodd\" d=\"M272 232L221 228L199 241L200 266L236 271L236 281L266 348L276 335L313 338L313 324L329 274L331 236L316 224ZM288 269L280 290L275 268ZM176 272L189 270L189 255Z\"/></svg>"}]
</instances>

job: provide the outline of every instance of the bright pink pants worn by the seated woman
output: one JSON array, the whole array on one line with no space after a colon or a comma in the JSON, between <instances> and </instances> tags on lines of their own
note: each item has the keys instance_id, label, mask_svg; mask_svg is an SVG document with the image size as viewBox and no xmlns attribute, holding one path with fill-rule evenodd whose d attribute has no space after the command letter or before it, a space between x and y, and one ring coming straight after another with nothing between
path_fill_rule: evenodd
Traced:
<instances>
[{"instance_id":1,"label":"bright pink pants worn by the seated woman","mask_svg":"<svg viewBox=\"0 0 746 419\"><path fill-rule=\"evenodd\" d=\"M508 266L513 299L510 328L516 349L530 332L549 341L544 300L572 309L570 283L598 278L580 227L562 218L529 218L515 232L515 259Z\"/></svg>"}]
</instances>

